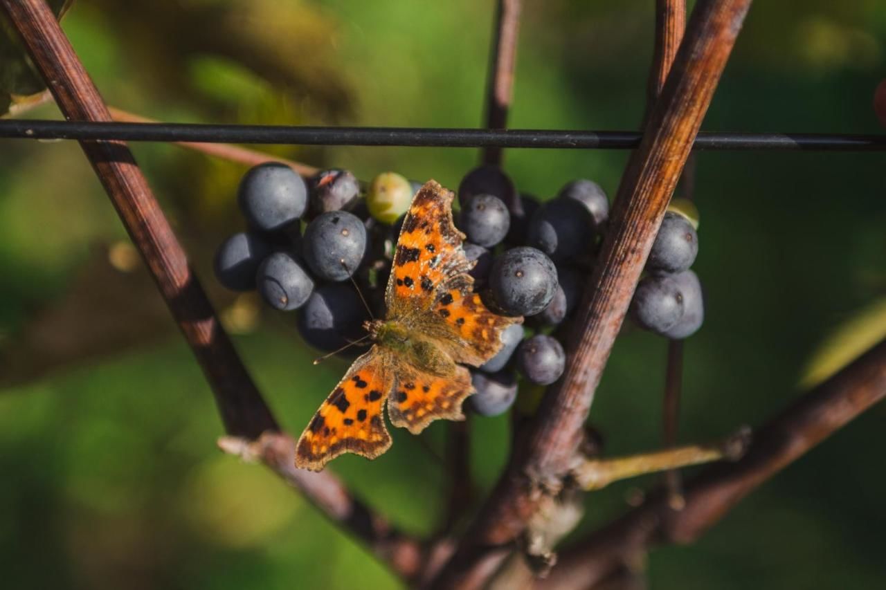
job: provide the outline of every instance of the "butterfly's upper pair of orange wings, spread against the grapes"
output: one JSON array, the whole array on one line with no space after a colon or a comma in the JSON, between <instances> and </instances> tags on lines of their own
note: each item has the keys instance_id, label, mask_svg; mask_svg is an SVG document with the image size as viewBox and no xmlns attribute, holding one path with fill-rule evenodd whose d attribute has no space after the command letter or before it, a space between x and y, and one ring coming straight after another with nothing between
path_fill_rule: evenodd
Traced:
<instances>
[{"instance_id":1,"label":"butterfly's upper pair of orange wings, spread against the grapes","mask_svg":"<svg viewBox=\"0 0 886 590\"><path fill-rule=\"evenodd\" d=\"M388 319L430 337L454 361L479 366L501 348L501 330L523 318L492 313L473 292L474 262L462 250L453 197L428 181L413 198L388 279Z\"/></svg>"}]
</instances>

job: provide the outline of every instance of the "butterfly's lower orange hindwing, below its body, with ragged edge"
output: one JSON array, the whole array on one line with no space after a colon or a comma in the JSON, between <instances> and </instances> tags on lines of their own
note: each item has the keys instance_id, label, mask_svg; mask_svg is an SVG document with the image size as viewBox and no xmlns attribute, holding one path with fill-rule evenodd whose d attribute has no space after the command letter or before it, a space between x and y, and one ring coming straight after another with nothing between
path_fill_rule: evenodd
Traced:
<instances>
[{"instance_id":1,"label":"butterfly's lower orange hindwing, below its body, with ragged edge","mask_svg":"<svg viewBox=\"0 0 886 590\"><path fill-rule=\"evenodd\" d=\"M439 377L404 365L397 368L388 416L394 426L418 434L433 420L463 420L462 402L472 392L470 373L464 367L456 367L453 375Z\"/></svg>"}]
</instances>

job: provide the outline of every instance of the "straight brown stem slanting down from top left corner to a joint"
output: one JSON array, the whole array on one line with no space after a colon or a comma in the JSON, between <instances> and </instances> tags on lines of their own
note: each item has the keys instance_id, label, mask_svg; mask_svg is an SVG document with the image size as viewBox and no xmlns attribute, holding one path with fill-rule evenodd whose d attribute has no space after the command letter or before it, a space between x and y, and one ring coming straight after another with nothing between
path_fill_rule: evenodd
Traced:
<instances>
[{"instance_id":1,"label":"straight brown stem slanting down from top left corner to a joint","mask_svg":"<svg viewBox=\"0 0 886 590\"><path fill-rule=\"evenodd\" d=\"M68 120L109 121L105 103L43 0L0 0ZM257 437L276 420L222 330L147 181L121 142L84 141L86 157L141 252L213 388L225 428Z\"/></svg>"}]
</instances>

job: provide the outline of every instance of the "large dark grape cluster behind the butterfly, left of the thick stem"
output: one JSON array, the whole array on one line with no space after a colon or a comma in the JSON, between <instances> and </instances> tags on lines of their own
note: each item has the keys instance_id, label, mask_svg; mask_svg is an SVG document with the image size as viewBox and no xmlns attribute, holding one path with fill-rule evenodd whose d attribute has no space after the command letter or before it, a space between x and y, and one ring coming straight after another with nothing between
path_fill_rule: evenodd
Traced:
<instances>
[{"instance_id":1,"label":"large dark grape cluster behind the butterfly, left of the thick stem","mask_svg":"<svg viewBox=\"0 0 886 590\"><path fill-rule=\"evenodd\" d=\"M221 244L215 274L229 289L257 290L270 307L298 310L307 344L336 351L365 334L369 311L360 293L372 314L384 317L392 252L419 186L392 172L363 188L345 170L305 182L281 164L253 167L238 190L248 229ZM569 182L540 204L518 193L498 167L478 167L462 179L454 219L466 236L466 257L476 260L475 289L496 313L526 318L502 332L498 354L472 369L477 392L469 406L478 414L510 408L518 374L538 385L563 374L557 327L578 305L608 215L605 193L587 180Z\"/></svg>"}]
</instances>

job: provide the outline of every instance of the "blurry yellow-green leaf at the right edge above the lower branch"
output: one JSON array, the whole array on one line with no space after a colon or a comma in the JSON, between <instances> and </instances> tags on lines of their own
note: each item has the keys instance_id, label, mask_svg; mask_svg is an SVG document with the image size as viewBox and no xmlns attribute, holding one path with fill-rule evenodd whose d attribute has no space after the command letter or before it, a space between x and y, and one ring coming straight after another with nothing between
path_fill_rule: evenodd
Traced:
<instances>
[{"instance_id":1,"label":"blurry yellow-green leaf at the right edge above the lower branch","mask_svg":"<svg viewBox=\"0 0 886 590\"><path fill-rule=\"evenodd\" d=\"M800 386L813 387L855 361L886 338L886 298L862 307L825 338L812 353Z\"/></svg>"}]
</instances>

